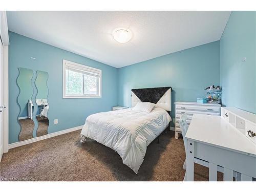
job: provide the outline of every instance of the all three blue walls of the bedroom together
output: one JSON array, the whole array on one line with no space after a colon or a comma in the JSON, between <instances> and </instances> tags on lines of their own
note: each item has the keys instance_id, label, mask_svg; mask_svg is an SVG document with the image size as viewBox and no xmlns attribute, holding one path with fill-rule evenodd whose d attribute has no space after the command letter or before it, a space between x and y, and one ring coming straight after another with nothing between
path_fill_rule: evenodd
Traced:
<instances>
[{"instance_id":1,"label":"all three blue walls of the bedroom together","mask_svg":"<svg viewBox=\"0 0 256 192\"><path fill-rule=\"evenodd\" d=\"M116 69L10 32L9 143L18 141L18 67L49 73L49 133L82 125L87 116L114 105L131 106L131 89L171 86L176 101L204 97L210 84L223 87L222 103L256 113L256 12L231 13L220 41ZM31 59L35 57L36 59ZM246 61L242 62L242 58ZM102 70L102 98L62 99L62 59ZM32 83L36 96L35 84ZM35 115L35 114L34 114ZM53 120L58 119L58 124ZM175 119L174 119L175 120ZM37 122L35 123L37 126ZM174 124L173 124L174 126ZM33 132L35 137L36 129Z\"/></svg>"}]
</instances>

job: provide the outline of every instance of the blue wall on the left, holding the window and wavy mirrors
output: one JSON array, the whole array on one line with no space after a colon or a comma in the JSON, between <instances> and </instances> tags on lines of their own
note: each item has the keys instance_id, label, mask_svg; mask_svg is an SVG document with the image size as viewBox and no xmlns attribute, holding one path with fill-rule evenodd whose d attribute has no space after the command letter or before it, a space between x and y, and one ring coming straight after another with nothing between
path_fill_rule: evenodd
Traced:
<instances>
[{"instance_id":1,"label":"blue wall on the left, holding the window and wavy mirrors","mask_svg":"<svg viewBox=\"0 0 256 192\"><path fill-rule=\"evenodd\" d=\"M110 111L117 105L117 69L95 60L58 49L25 36L9 32L9 143L18 141L20 126L17 121L19 106L16 84L18 67L33 70L32 82L36 71L46 71L48 79L49 129L48 133L65 130L84 124L86 118L93 113ZM31 59L35 57L36 59ZM102 98L62 99L62 59L81 63L102 70ZM32 83L36 96L35 83ZM35 114L34 114L35 115ZM58 119L58 124L54 124ZM36 125L37 126L37 123ZM36 136L36 129L33 132Z\"/></svg>"}]
</instances>

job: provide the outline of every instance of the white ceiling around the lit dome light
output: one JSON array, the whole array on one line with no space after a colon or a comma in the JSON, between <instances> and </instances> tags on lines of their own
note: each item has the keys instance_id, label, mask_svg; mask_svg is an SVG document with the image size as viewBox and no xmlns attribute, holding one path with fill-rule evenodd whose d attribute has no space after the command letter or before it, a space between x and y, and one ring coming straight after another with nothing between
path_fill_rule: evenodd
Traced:
<instances>
[{"instance_id":1,"label":"white ceiling around the lit dome light","mask_svg":"<svg viewBox=\"0 0 256 192\"><path fill-rule=\"evenodd\" d=\"M230 11L8 11L8 29L120 68L220 40ZM114 29L130 29L126 44Z\"/></svg>"}]
</instances>

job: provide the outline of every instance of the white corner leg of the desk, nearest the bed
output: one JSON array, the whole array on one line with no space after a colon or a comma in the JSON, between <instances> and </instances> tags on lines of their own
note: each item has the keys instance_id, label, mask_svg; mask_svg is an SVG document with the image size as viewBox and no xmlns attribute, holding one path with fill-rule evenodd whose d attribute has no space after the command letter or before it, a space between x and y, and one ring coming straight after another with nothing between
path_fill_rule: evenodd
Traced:
<instances>
[{"instance_id":1,"label":"white corner leg of the desk, nearest the bed","mask_svg":"<svg viewBox=\"0 0 256 192\"><path fill-rule=\"evenodd\" d=\"M194 141L187 140L187 181L194 181Z\"/></svg>"}]
</instances>

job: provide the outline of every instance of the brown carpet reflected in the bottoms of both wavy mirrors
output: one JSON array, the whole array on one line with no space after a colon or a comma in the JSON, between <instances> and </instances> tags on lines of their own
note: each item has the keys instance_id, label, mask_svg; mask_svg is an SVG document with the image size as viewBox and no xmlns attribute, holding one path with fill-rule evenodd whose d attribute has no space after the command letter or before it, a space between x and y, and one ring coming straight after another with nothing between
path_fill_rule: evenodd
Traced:
<instances>
[{"instance_id":1,"label":"brown carpet reflected in the bottoms of both wavy mirrors","mask_svg":"<svg viewBox=\"0 0 256 192\"><path fill-rule=\"evenodd\" d=\"M38 128L36 130L36 136L42 136L48 134L49 120L48 118L36 117L38 122ZM21 131L19 133L19 141L24 141L33 138L34 121L32 119L20 119Z\"/></svg>"}]
</instances>

